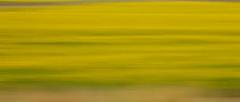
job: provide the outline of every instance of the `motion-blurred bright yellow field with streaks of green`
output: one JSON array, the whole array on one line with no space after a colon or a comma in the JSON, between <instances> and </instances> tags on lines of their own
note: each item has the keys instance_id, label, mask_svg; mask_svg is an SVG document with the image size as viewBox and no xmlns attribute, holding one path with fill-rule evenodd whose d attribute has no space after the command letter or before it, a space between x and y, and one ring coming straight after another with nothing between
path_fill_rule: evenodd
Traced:
<instances>
[{"instance_id":1,"label":"motion-blurred bright yellow field with streaks of green","mask_svg":"<svg viewBox=\"0 0 240 102\"><path fill-rule=\"evenodd\" d=\"M0 87L240 88L240 4L0 8Z\"/></svg>"}]
</instances>

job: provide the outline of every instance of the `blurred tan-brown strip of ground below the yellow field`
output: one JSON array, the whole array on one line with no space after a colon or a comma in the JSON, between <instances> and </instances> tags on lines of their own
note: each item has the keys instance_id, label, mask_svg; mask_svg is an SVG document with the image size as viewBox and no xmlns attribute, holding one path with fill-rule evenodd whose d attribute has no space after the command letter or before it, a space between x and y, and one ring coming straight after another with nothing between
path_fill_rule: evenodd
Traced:
<instances>
[{"instance_id":1,"label":"blurred tan-brown strip of ground below the yellow field","mask_svg":"<svg viewBox=\"0 0 240 102\"><path fill-rule=\"evenodd\" d=\"M179 88L0 92L4 102L239 102L239 97L204 97Z\"/></svg>"}]
</instances>

